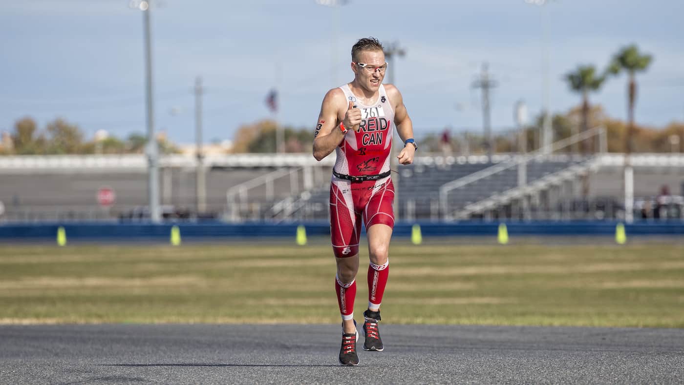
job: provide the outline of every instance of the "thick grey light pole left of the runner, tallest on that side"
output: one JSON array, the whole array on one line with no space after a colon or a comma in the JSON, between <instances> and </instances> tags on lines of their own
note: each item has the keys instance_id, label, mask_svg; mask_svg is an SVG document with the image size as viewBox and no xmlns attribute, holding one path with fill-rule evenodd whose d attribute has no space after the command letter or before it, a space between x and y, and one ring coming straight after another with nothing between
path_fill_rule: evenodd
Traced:
<instances>
[{"instance_id":1,"label":"thick grey light pole left of the runner, tallest on that side","mask_svg":"<svg viewBox=\"0 0 684 385\"><path fill-rule=\"evenodd\" d=\"M152 43L150 38L150 3L142 0L140 3L131 1L131 8L139 8L142 11L142 25L144 33L145 50L145 94L147 111L147 145L146 154L148 159L148 201L150 207L150 220L153 223L161 222L159 210L159 149L155 138L155 117L152 93Z\"/></svg>"}]
</instances>

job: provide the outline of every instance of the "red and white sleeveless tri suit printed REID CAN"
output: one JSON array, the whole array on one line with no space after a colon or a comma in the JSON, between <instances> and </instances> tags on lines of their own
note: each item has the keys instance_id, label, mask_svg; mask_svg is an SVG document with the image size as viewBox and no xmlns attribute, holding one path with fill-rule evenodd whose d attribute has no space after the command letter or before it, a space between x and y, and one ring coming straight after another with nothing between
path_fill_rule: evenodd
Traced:
<instances>
[{"instance_id":1,"label":"red and white sleeveless tri suit printed REID CAN","mask_svg":"<svg viewBox=\"0 0 684 385\"><path fill-rule=\"evenodd\" d=\"M394 110L384 86L380 85L378 100L364 105L357 101L349 85L339 87L345 97L361 109L358 132L347 133L335 149L334 171L343 175L378 175L389 172ZM330 181L330 236L335 257L358 254L361 218L368 229L382 223L394 227L394 185L389 176L378 180L356 182L332 175Z\"/></svg>"}]
</instances>

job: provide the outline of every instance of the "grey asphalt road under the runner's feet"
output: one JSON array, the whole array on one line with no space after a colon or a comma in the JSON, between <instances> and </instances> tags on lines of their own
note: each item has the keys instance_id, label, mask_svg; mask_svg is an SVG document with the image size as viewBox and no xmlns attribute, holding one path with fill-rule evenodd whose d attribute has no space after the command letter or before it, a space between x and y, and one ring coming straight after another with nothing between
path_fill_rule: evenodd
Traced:
<instances>
[{"instance_id":1,"label":"grey asphalt road under the runner's feet","mask_svg":"<svg viewBox=\"0 0 684 385\"><path fill-rule=\"evenodd\" d=\"M684 329L382 325L341 367L333 325L0 326L2 384L681 384Z\"/></svg>"}]
</instances>

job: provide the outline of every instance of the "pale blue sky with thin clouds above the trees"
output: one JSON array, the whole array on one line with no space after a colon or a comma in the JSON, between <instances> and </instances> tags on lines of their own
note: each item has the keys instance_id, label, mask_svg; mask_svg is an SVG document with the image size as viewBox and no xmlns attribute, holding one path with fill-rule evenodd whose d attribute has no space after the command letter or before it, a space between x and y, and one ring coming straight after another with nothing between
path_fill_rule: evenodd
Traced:
<instances>
[{"instance_id":1,"label":"pale blue sky with thin clouds above the trees","mask_svg":"<svg viewBox=\"0 0 684 385\"><path fill-rule=\"evenodd\" d=\"M684 120L684 1L555 0L548 23L550 107L579 103L563 74L603 68L636 43L655 61L638 76L636 119ZM55 117L118 137L145 132L142 12L127 0L0 0L0 131L25 116ZM492 126L513 126L513 106L542 107L542 7L524 0L350 0L336 11L314 0L163 0L153 3L155 127L194 141L196 76L202 76L205 141L233 139L241 124L270 117L264 99L280 89L278 119L315 128L326 91L352 80L350 48L361 37L399 42L395 84L416 131L479 131L484 61L498 86ZM337 31L337 33L336 33ZM332 42L337 35L337 50ZM333 57L337 57L334 63ZM592 94L612 117L627 115L624 75ZM460 106L458 109L456 106ZM176 113L172 113L175 110Z\"/></svg>"}]
</instances>

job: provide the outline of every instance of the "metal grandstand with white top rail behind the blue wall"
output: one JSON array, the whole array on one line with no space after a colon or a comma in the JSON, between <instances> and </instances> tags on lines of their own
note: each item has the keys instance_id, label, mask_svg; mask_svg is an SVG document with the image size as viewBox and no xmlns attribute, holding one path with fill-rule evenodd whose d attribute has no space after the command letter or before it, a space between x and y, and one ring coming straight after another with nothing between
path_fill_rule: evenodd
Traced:
<instances>
[{"instance_id":1,"label":"metal grandstand with white top rail behind the blue wall","mask_svg":"<svg viewBox=\"0 0 684 385\"><path fill-rule=\"evenodd\" d=\"M603 138L603 139L602 139ZM599 153L563 152L590 139ZM663 184L672 188L668 217L681 218L683 154L632 154L635 207L646 210ZM622 218L624 154L605 152L595 128L553 145L551 154L417 156L399 167L399 220L469 218ZM196 220L194 156L162 156L161 203L169 220ZM205 158L209 218L242 221L327 220L334 155L231 154ZM147 160L144 154L0 156L0 220L145 220ZM524 175L524 177L523 177ZM116 203L102 208L97 189L111 186ZM655 205L656 203L651 203ZM643 205L642 208L639 205ZM639 206L639 207L637 207Z\"/></svg>"}]
</instances>

